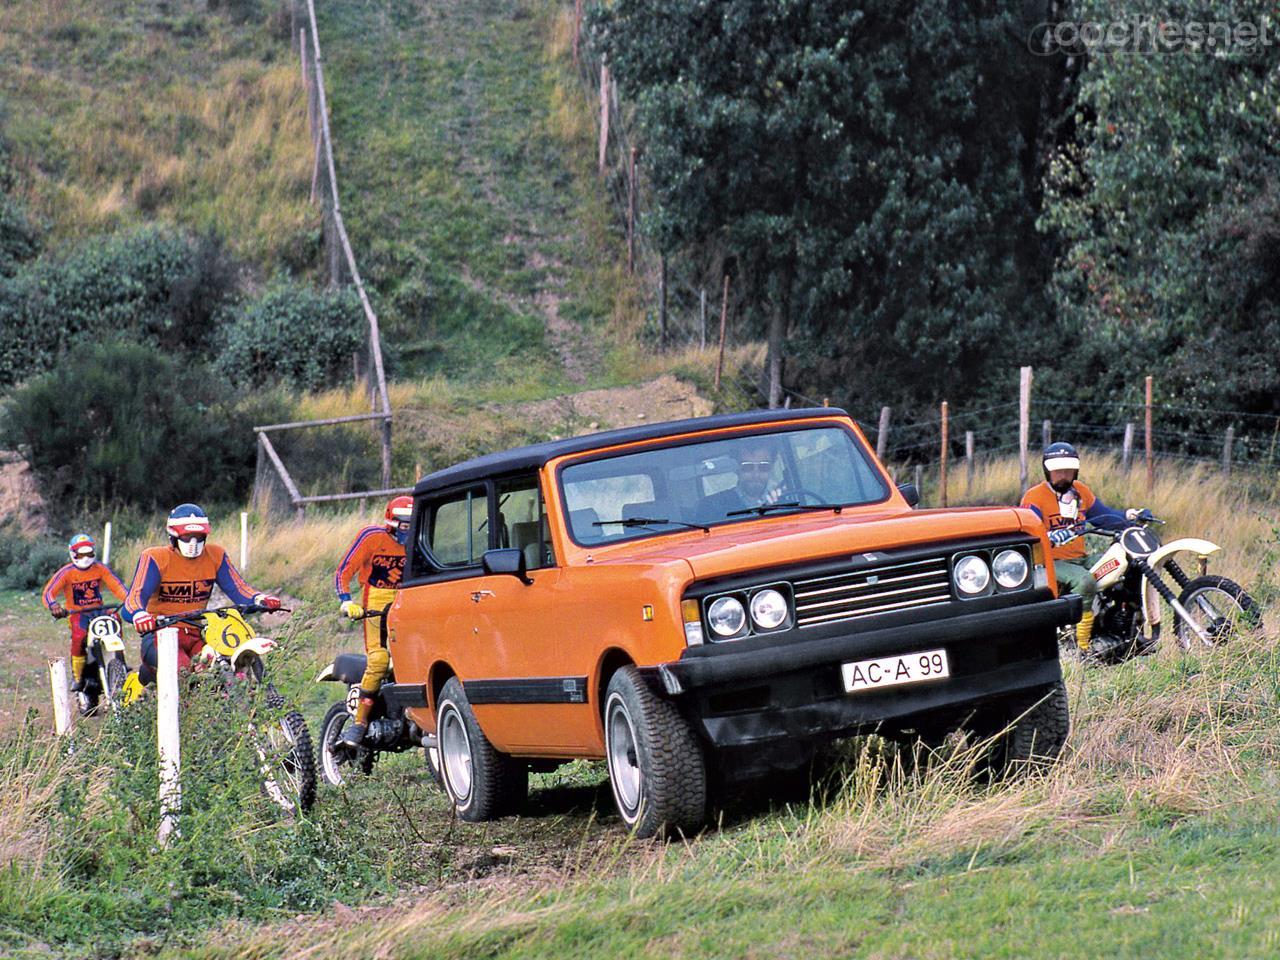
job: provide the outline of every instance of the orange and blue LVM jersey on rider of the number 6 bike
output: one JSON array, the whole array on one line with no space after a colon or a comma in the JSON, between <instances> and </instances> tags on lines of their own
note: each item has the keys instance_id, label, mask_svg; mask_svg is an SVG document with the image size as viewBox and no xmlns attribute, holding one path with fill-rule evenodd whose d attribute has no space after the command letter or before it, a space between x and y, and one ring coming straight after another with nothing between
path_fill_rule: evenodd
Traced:
<instances>
[{"instance_id":1,"label":"orange and blue LVM jersey on rider of the number 6 bike","mask_svg":"<svg viewBox=\"0 0 1280 960\"><path fill-rule=\"evenodd\" d=\"M239 571L218 544L205 544L198 557L183 557L172 547L148 547L133 571L129 595L123 614L133 622L134 614L148 611L157 617L202 611L209 604L214 585L221 588L232 603L252 603L259 594L244 582Z\"/></svg>"}]
</instances>

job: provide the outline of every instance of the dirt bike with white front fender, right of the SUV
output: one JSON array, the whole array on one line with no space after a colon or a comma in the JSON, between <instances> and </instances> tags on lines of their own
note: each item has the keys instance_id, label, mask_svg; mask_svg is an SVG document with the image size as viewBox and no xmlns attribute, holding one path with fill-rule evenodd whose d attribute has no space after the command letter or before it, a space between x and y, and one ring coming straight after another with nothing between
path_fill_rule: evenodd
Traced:
<instances>
[{"instance_id":1,"label":"dirt bike with white front fender, right of the SUV","mask_svg":"<svg viewBox=\"0 0 1280 960\"><path fill-rule=\"evenodd\" d=\"M1262 628L1258 604L1234 580L1208 572L1208 558L1222 548L1210 540L1185 536L1162 544L1149 529L1165 521L1142 511L1124 530L1085 526L1084 532L1105 536L1111 545L1091 568L1098 585L1094 602L1093 637L1111 637L1096 659L1120 663L1156 652L1161 639L1161 600L1174 612L1174 637L1183 650L1194 645L1217 646L1233 636ZM1192 577L1174 559L1189 554L1196 562ZM1179 593L1169 585L1171 580ZM1074 627L1071 641L1074 644Z\"/></svg>"}]
</instances>

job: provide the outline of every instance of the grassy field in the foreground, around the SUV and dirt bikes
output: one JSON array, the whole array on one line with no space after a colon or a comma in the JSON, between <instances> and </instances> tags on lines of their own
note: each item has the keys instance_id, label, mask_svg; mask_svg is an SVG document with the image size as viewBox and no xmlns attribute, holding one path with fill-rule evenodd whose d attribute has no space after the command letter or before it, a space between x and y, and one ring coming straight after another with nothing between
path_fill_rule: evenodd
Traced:
<instances>
[{"instance_id":1,"label":"grassy field in the foreground, around the SUV and dirt bikes","mask_svg":"<svg viewBox=\"0 0 1280 960\"><path fill-rule=\"evenodd\" d=\"M1260 596L1275 594L1274 500L1249 499L1217 475L1174 468L1151 498L1139 498L1112 465L1089 463L1105 498L1151 503L1170 520L1170 535L1213 536L1225 547L1215 562L1221 572ZM998 462L968 495L952 498L1007 502L1015 483L1016 465ZM230 518L216 521L215 538L234 541ZM252 541L251 580L296 598L292 621L273 627L284 645L278 671L314 726L337 696L310 682L314 671L355 645L332 613L328 579L358 524L347 515L259 526ZM120 566L151 539L122 540ZM13 719L0 782L13 815L0 818L0 849L22 852L0 872L5 952L44 955L51 945L72 956L123 948L207 957L301 950L468 959L1084 957L1275 948L1274 623L1260 640L1202 654L1166 645L1117 668L1066 663L1068 754L1047 776L1021 783L970 786L965 753L909 773L876 741L855 741L826 797L805 801L803 786L777 785L786 804L740 797L721 828L663 846L626 838L600 764L536 777L524 815L471 826L452 820L421 758L402 755L370 781L324 790L305 823L274 822L246 795L236 801L238 827L225 836L192 838L157 858L142 841L111 833L86 861L70 855L79 835L59 796L78 796L81 782L106 790L105 773L51 746L44 723L17 739L13 726L24 704L44 700L37 650L61 652L61 626L33 613L33 596L0 599L0 643L20 649L4 663L29 671L15 685L6 673ZM116 742L111 728L95 730L82 727L86 749L95 736ZM198 753L209 733L189 736ZM145 741L129 742L124 755L145 756ZM193 790L201 790L196 776ZM150 788L137 797L131 827L142 837L154 829ZM383 838L371 863L352 847L358 818ZM120 879L125 868L129 883ZM168 908L163 890L177 891ZM352 909L332 906L334 899ZM93 924L83 923L86 914ZM223 920L232 922L219 927Z\"/></svg>"}]
</instances>

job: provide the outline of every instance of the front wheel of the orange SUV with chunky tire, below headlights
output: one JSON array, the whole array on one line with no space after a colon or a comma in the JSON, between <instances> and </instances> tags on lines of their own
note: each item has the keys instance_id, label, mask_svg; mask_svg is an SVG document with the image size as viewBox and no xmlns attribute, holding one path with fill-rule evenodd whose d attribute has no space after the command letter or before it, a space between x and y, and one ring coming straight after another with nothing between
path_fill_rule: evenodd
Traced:
<instances>
[{"instance_id":1,"label":"front wheel of the orange SUV with chunky tire, below headlights","mask_svg":"<svg viewBox=\"0 0 1280 960\"><path fill-rule=\"evenodd\" d=\"M694 731L635 667L609 680L604 755L622 822L637 837L691 835L707 822L707 760Z\"/></svg>"}]
</instances>

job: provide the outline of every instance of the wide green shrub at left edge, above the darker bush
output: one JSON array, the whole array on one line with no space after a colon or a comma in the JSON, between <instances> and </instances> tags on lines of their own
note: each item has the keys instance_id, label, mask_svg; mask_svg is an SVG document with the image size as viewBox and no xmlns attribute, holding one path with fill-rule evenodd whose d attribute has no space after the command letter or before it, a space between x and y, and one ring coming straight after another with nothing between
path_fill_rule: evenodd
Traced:
<instances>
[{"instance_id":1,"label":"wide green shrub at left edge, above the darker bush","mask_svg":"<svg viewBox=\"0 0 1280 960\"><path fill-rule=\"evenodd\" d=\"M5 384L49 370L73 343L108 334L165 353L206 349L236 266L214 237L147 227L41 257L0 285Z\"/></svg>"}]
</instances>

